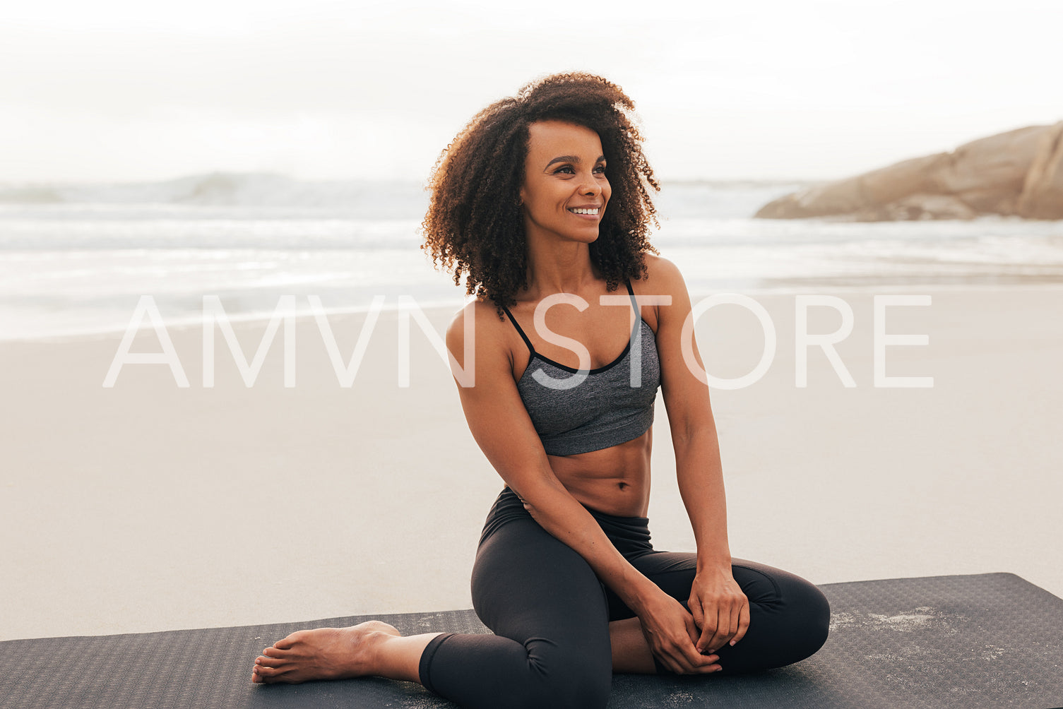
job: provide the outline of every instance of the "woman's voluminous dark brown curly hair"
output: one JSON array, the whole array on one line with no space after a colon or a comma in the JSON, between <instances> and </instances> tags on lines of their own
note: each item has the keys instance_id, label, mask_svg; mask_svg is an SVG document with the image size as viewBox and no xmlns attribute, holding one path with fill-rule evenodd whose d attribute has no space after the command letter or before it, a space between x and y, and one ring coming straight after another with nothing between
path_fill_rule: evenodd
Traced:
<instances>
[{"instance_id":1,"label":"woman's voluminous dark brown curly hair","mask_svg":"<svg viewBox=\"0 0 1063 709\"><path fill-rule=\"evenodd\" d=\"M528 126L561 120L597 133L609 161L612 197L590 244L591 263L608 290L645 275L645 252L660 190L632 121L635 103L615 84L588 73L561 73L525 85L516 97L476 114L436 161L426 189L432 201L421 223L433 264L466 276L466 293L503 306L527 286L527 249L520 189Z\"/></svg>"}]
</instances>

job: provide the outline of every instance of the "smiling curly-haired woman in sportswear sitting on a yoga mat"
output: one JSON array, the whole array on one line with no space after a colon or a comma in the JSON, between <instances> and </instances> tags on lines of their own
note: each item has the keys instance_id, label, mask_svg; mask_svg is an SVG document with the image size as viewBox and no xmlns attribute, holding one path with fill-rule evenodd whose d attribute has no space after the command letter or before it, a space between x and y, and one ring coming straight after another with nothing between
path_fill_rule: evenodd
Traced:
<instances>
[{"instance_id":1,"label":"smiling curly-haired woman in sportswear sitting on a yoga mat","mask_svg":"<svg viewBox=\"0 0 1063 709\"><path fill-rule=\"evenodd\" d=\"M494 635L300 631L255 681L371 674L467 707L583 709L606 705L612 672L748 672L825 641L814 586L730 556L709 391L696 345L684 354L690 298L647 241L658 185L632 109L601 78L549 77L479 113L433 175L425 248L476 296L448 347L460 358L472 325L459 366L475 384L458 390L506 484L472 577ZM658 385L696 554L649 544Z\"/></svg>"}]
</instances>

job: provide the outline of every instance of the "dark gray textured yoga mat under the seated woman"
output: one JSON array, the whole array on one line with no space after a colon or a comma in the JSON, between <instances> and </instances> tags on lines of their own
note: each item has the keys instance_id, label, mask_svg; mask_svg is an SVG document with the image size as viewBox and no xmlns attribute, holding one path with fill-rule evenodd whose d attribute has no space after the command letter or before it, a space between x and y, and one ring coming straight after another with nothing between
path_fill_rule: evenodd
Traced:
<instances>
[{"instance_id":1,"label":"dark gray textured yoga mat under the seated woman","mask_svg":"<svg viewBox=\"0 0 1063 709\"><path fill-rule=\"evenodd\" d=\"M1063 706L1063 600L1012 574L821 587L816 655L742 677L615 675L610 707ZM377 615L403 632L484 632L471 610ZM201 630L0 642L0 707L453 707L384 679L255 686L251 664L292 630L340 618Z\"/></svg>"}]
</instances>

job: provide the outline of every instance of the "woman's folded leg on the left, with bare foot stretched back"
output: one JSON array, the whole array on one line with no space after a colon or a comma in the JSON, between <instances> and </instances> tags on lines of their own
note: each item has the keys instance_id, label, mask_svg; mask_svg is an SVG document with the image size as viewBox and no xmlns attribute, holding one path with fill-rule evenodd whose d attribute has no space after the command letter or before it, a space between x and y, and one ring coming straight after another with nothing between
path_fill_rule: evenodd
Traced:
<instances>
[{"instance_id":1,"label":"woman's folded leg on the left, with bare foot stretched back","mask_svg":"<svg viewBox=\"0 0 1063 709\"><path fill-rule=\"evenodd\" d=\"M604 707L618 669L653 672L637 619L610 626L584 559L530 518L505 524L473 570L477 613L494 635L401 637L370 622L294 632L255 661L256 682L379 675L421 681L467 707ZM614 631L612 631L614 630Z\"/></svg>"}]
</instances>

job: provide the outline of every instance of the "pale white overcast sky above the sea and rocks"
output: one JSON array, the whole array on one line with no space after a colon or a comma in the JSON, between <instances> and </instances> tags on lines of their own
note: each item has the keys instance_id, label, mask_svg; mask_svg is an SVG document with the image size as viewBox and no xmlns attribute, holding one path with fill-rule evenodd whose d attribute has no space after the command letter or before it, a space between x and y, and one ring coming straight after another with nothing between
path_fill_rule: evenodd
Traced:
<instances>
[{"instance_id":1,"label":"pale white overcast sky above the sea and rocks","mask_svg":"<svg viewBox=\"0 0 1063 709\"><path fill-rule=\"evenodd\" d=\"M664 179L840 178L1063 120L1063 2L22 0L0 181L424 180L567 69L635 99Z\"/></svg>"}]
</instances>

